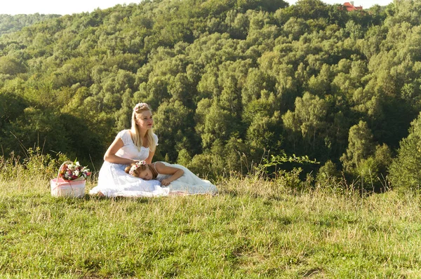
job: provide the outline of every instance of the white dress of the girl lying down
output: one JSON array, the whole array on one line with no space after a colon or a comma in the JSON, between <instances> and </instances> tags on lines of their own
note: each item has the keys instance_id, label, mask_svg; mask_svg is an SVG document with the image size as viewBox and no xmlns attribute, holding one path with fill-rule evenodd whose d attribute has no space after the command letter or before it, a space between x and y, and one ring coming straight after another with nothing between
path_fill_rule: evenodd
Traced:
<instances>
[{"instance_id":1,"label":"white dress of the girl lying down","mask_svg":"<svg viewBox=\"0 0 421 279\"><path fill-rule=\"evenodd\" d=\"M167 189L170 190L170 194L196 195L210 193L212 195L215 195L218 192L218 189L215 185L210 183L208 180L197 177L188 168L177 164L170 164L166 162L161 163L170 167L180 168L184 170L184 174L182 175L182 177L175 179L167 186ZM154 164L152 165L154 166ZM159 182L161 182L163 179L166 179L168 177L171 177L171 175L161 175L159 173L156 179L159 180Z\"/></svg>"}]
</instances>

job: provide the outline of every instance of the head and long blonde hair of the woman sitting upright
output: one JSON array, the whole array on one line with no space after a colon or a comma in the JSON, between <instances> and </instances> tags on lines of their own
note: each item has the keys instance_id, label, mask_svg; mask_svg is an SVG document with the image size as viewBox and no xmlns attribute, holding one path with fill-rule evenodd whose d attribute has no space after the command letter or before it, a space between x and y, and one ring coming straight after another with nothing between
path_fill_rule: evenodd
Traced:
<instances>
[{"instance_id":1,"label":"head and long blonde hair of the woman sitting upright","mask_svg":"<svg viewBox=\"0 0 421 279\"><path fill-rule=\"evenodd\" d=\"M131 117L131 131L135 146L140 149L143 145L143 139L140 135L146 132L148 147L151 151L155 151L156 142L153 130L154 120L152 119L152 110L145 102L135 105Z\"/></svg>"}]
</instances>

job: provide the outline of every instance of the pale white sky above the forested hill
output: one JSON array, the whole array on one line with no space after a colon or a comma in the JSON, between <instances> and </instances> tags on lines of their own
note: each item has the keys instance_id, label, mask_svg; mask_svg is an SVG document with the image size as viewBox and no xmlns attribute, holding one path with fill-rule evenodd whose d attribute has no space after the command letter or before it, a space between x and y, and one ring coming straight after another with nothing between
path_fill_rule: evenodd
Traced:
<instances>
[{"instance_id":1,"label":"pale white sky above the forested hill","mask_svg":"<svg viewBox=\"0 0 421 279\"><path fill-rule=\"evenodd\" d=\"M290 5L295 4L296 0L286 0ZM322 0L323 1L323 0ZM349 0L343 0L343 3ZM375 4L386 6L393 0L356 0L354 6L363 6L370 8ZM324 0L326 4L343 4L339 0ZM95 10L95 8L105 9L116 6L116 4L140 3L140 0L0 0L0 14L18 15L18 14L58 14L72 15L72 13L83 13Z\"/></svg>"}]
</instances>

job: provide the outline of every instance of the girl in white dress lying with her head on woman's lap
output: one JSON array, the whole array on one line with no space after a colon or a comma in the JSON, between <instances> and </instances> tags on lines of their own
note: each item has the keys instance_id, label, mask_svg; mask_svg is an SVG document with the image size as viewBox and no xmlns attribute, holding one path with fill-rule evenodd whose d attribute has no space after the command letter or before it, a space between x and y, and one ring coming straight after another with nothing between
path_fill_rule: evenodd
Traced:
<instances>
[{"instance_id":1,"label":"girl in white dress lying with her head on woman's lap","mask_svg":"<svg viewBox=\"0 0 421 279\"><path fill-rule=\"evenodd\" d=\"M133 177L139 177L147 181L156 179L163 186L168 186L170 195L196 195L209 193L215 195L218 192L216 186L208 180L194 175L182 165L166 162L147 163L138 161L126 167L126 172Z\"/></svg>"}]
</instances>

